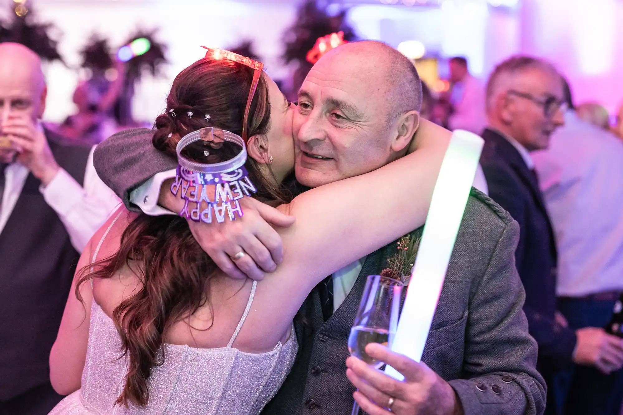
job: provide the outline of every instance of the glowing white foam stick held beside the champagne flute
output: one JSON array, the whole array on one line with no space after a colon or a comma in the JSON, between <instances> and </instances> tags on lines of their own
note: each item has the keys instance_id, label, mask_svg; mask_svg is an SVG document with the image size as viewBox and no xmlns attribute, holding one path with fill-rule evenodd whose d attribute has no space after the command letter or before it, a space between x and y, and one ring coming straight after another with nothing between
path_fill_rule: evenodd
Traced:
<instances>
[{"instance_id":1,"label":"glowing white foam stick held beside the champagne flute","mask_svg":"<svg viewBox=\"0 0 623 415\"><path fill-rule=\"evenodd\" d=\"M416 262L411 270L411 282L391 345L392 351L415 361L422 358L483 144L482 138L475 134L454 131L441 163ZM404 379L389 365L385 373L398 380Z\"/></svg>"}]
</instances>

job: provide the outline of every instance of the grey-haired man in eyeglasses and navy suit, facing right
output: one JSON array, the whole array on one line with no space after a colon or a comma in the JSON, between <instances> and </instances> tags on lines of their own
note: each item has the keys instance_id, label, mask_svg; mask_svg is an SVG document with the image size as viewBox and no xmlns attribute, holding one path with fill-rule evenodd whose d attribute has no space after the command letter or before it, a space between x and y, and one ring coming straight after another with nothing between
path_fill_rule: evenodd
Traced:
<instances>
[{"instance_id":1,"label":"grey-haired man in eyeglasses and navy suit, facing right","mask_svg":"<svg viewBox=\"0 0 623 415\"><path fill-rule=\"evenodd\" d=\"M615 370L623 357L620 343L595 328L572 330L556 307L556 241L530 153L547 148L551 134L564 124L563 97L554 67L532 57L511 57L488 80L488 127L482 134L489 194L520 225L515 262L526 290L530 334L539 346L537 368L549 386L549 414L558 411L553 373L572 363L594 366L606 356Z\"/></svg>"}]
</instances>

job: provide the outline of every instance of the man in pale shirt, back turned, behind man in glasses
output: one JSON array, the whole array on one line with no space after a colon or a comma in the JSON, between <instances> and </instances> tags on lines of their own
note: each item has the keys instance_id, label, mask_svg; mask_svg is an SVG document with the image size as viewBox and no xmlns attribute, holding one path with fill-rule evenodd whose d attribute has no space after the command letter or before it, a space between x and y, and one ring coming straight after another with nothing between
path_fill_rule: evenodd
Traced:
<instances>
[{"instance_id":1,"label":"man in pale shirt, back turned, behind man in glasses","mask_svg":"<svg viewBox=\"0 0 623 415\"><path fill-rule=\"evenodd\" d=\"M623 143L602 128L579 119L565 82L569 109L549 148L533 158L558 246L558 310L569 327L604 335L623 292ZM565 414L618 415L623 390L613 389L621 360L601 355L596 367L579 366L556 374L566 393ZM573 381L572 381L573 378Z\"/></svg>"}]
</instances>

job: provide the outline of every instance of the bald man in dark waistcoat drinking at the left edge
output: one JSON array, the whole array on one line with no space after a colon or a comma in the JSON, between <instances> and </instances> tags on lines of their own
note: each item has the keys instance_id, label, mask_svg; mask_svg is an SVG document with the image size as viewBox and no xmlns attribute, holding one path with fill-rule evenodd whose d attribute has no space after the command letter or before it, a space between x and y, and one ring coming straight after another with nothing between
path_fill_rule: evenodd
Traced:
<instances>
[{"instance_id":1,"label":"bald man in dark waistcoat drinking at the left edge","mask_svg":"<svg viewBox=\"0 0 623 415\"><path fill-rule=\"evenodd\" d=\"M62 398L49 381L75 264L118 199L89 148L43 128L39 57L0 44L0 414L47 414Z\"/></svg>"}]
</instances>

